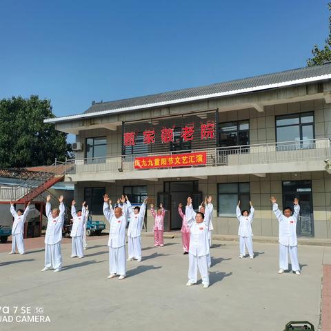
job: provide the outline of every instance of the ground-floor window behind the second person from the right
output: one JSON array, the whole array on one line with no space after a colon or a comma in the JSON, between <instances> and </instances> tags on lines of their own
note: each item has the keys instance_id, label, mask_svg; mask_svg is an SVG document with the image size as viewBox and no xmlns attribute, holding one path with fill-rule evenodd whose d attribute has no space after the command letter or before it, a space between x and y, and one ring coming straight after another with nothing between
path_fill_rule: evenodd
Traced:
<instances>
[{"instance_id":1,"label":"ground-floor window behind the second person from the right","mask_svg":"<svg viewBox=\"0 0 331 331\"><path fill-rule=\"evenodd\" d=\"M238 201L241 210L250 208L250 183L218 184L218 207L220 217L235 217Z\"/></svg>"}]
</instances>

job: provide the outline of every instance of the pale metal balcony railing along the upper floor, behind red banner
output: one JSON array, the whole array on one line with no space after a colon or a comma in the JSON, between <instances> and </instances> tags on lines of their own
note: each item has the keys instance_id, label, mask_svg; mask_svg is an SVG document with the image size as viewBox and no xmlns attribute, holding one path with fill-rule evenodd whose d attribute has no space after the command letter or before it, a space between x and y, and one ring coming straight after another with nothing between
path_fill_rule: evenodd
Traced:
<instances>
[{"instance_id":1,"label":"pale metal balcony railing along the upper floor, behind red banner","mask_svg":"<svg viewBox=\"0 0 331 331\"><path fill-rule=\"evenodd\" d=\"M259 163L288 163L297 161L325 160L331 157L330 139L284 141L279 143L259 143L246 146L181 150L174 152L113 155L66 161L66 174L85 172L143 171L134 169L134 158L175 155L180 153L206 152L205 166L250 165ZM196 167L197 165L194 165ZM171 168L171 167L165 167Z\"/></svg>"}]
</instances>

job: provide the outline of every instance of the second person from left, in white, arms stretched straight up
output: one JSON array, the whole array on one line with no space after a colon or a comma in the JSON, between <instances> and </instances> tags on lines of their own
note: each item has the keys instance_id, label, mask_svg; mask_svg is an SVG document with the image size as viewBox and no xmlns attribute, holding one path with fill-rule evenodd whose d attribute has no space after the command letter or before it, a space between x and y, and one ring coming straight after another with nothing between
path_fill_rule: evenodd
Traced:
<instances>
[{"instance_id":1,"label":"second person from left, in white, arms stretched straight up","mask_svg":"<svg viewBox=\"0 0 331 331\"><path fill-rule=\"evenodd\" d=\"M48 222L45 235L45 268L41 271L54 269L54 272L59 272L62 268L61 240L66 207L63 204L63 195L59 197L59 209L52 210L50 195L46 201Z\"/></svg>"}]
</instances>

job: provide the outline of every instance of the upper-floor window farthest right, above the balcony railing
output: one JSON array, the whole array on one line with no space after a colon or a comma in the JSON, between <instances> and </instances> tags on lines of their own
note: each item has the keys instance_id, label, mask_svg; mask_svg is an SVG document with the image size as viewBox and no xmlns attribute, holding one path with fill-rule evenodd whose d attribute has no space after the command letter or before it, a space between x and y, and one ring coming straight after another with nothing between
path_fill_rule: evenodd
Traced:
<instances>
[{"instance_id":1,"label":"upper-floor window farthest right, above the balcony railing","mask_svg":"<svg viewBox=\"0 0 331 331\"><path fill-rule=\"evenodd\" d=\"M314 139L314 112L301 114L281 115L276 117L277 150L297 148L313 148ZM282 147L283 146L283 147Z\"/></svg>"}]
</instances>

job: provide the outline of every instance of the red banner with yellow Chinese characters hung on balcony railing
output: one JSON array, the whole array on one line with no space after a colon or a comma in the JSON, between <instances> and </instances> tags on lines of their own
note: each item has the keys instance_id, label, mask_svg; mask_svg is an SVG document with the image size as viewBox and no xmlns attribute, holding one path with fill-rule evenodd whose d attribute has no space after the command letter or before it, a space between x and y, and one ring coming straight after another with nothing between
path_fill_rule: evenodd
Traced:
<instances>
[{"instance_id":1,"label":"red banner with yellow Chinese characters hung on balcony railing","mask_svg":"<svg viewBox=\"0 0 331 331\"><path fill-rule=\"evenodd\" d=\"M134 159L134 169L187 167L205 165L206 163L206 152L161 155L157 157L136 157Z\"/></svg>"}]
</instances>

